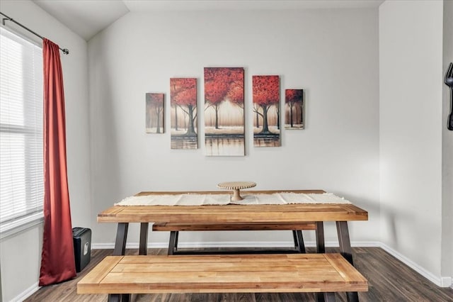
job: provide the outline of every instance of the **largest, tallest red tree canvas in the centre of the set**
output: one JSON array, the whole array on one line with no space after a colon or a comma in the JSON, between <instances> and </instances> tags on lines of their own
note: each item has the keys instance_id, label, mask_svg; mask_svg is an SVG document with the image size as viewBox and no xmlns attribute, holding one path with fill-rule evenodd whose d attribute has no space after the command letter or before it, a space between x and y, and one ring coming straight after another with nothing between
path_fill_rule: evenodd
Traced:
<instances>
[{"instance_id":1,"label":"largest, tallest red tree canvas in the centre of the set","mask_svg":"<svg viewBox=\"0 0 453 302\"><path fill-rule=\"evenodd\" d=\"M243 156L243 67L205 67L207 156Z\"/></svg>"}]
</instances>

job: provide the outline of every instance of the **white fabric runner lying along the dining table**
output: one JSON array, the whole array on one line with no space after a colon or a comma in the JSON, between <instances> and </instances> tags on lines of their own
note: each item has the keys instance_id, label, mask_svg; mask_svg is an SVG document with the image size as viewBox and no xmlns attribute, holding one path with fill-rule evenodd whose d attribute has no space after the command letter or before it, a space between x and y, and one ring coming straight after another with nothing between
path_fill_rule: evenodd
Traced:
<instances>
[{"instance_id":1,"label":"white fabric runner lying along the dining table","mask_svg":"<svg viewBox=\"0 0 453 302\"><path fill-rule=\"evenodd\" d=\"M273 194L241 194L243 200L231 201L231 194L163 194L130 196L115 206L217 206L227 204L265 205L294 203L350 203L332 193L303 194L280 192Z\"/></svg>"}]
</instances>

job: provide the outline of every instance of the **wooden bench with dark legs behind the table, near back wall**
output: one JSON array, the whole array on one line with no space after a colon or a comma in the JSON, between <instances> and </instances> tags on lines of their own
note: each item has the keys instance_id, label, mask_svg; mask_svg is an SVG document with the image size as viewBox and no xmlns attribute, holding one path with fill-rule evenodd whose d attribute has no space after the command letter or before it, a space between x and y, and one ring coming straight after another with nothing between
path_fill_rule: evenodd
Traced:
<instances>
[{"instance_id":1,"label":"wooden bench with dark legs behind the table, near back wall","mask_svg":"<svg viewBox=\"0 0 453 302\"><path fill-rule=\"evenodd\" d=\"M203 224L203 225L189 225L187 223L154 223L152 225L153 231L167 231L170 232L170 240L168 242L168 255L181 255L181 254L202 254L200 251L185 251L178 250L178 235L180 231L212 231L212 230L292 230L294 239L293 250L275 249L260 249L259 252L305 252L304 237L302 237L302 230L316 230L316 223L277 223L274 225L264 223L248 223L248 224ZM322 240L323 241L323 240ZM240 250L240 253L245 252ZM258 252L251 250L251 252ZM323 252L323 250L321 250ZM222 253L222 250L216 253ZM223 253L234 253L231 250L225 250Z\"/></svg>"}]
</instances>

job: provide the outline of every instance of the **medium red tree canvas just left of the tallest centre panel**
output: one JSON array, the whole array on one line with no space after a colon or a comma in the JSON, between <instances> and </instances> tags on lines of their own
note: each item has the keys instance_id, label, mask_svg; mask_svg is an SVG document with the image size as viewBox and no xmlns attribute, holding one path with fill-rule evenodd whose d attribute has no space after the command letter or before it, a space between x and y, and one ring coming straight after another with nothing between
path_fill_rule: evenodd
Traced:
<instances>
[{"instance_id":1,"label":"medium red tree canvas just left of the tallest centre panel","mask_svg":"<svg viewBox=\"0 0 453 302\"><path fill-rule=\"evenodd\" d=\"M170 79L171 149L197 149L197 79Z\"/></svg>"}]
</instances>

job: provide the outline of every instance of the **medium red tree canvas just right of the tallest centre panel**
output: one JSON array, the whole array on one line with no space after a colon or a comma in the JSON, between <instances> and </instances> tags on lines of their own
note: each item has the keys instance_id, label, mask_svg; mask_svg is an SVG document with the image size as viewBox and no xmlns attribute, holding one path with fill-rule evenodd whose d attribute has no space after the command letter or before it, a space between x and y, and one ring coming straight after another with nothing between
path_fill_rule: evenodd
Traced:
<instances>
[{"instance_id":1,"label":"medium red tree canvas just right of the tallest centre panel","mask_svg":"<svg viewBox=\"0 0 453 302\"><path fill-rule=\"evenodd\" d=\"M280 77L253 76L253 145L280 146Z\"/></svg>"}]
</instances>

